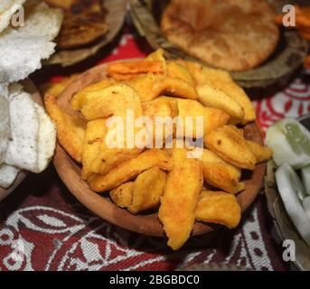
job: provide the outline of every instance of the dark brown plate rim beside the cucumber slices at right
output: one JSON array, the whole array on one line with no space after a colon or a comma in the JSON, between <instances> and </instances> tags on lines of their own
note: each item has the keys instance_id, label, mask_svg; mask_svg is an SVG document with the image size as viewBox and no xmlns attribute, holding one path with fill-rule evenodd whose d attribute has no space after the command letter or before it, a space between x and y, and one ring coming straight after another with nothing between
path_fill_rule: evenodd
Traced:
<instances>
[{"instance_id":1,"label":"dark brown plate rim beside the cucumber slices at right","mask_svg":"<svg viewBox=\"0 0 310 289\"><path fill-rule=\"evenodd\" d=\"M308 129L310 129L310 115L299 118L299 121ZM310 247L300 237L293 222L287 214L284 203L277 191L277 182L275 172L277 169L274 161L268 162L267 176L265 179L265 192L268 201L268 210L277 231L277 237L274 236L277 243L282 245L285 239L294 240L296 245L296 260L294 264L298 269L310 271Z\"/></svg>"}]
</instances>

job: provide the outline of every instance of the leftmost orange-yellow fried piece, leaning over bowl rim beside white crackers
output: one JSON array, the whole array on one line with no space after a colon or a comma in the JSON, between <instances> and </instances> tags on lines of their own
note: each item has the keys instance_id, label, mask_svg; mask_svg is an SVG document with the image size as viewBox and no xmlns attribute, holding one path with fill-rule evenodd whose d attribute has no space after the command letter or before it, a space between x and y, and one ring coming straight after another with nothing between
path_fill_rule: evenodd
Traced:
<instances>
[{"instance_id":1,"label":"leftmost orange-yellow fried piece, leaning over bowl rim beside white crackers","mask_svg":"<svg viewBox=\"0 0 310 289\"><path fill-rule=\"evenodd\" d=\"M86 123L77 116L70 116L58 107L56 98L45 95L46 110L57 126L57 139L70 157L81 163L81 152L86 132Z\"/></svg>"}]
</instances>

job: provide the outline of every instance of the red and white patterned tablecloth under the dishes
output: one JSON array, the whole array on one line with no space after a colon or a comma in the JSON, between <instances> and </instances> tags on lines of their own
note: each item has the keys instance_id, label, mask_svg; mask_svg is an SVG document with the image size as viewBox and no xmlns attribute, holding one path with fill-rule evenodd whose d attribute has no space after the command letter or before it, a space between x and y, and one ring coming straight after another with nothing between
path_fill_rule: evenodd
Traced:
<instances>
[{"instance_id":1,"label":"red and white patterned tablecloth under the dishes","mask_svg":"<svg viewBox=\"0 0 310 289\"><path fill-rule=\"evenodd\" d=\"M130 30L113 45L117 48L104 51L100 62L144 57L152 51ZM304 73L287 89L255 101L263 128L282 117L310 112L307 77ZM138 235L93 215L74 199L51 165L41 175L29 174L0 203L0 270L174 270L198 263L287 270L272 231L260 193L239 228L191 238L173 252L164 238Z\"/></svg>"}]
</instances>

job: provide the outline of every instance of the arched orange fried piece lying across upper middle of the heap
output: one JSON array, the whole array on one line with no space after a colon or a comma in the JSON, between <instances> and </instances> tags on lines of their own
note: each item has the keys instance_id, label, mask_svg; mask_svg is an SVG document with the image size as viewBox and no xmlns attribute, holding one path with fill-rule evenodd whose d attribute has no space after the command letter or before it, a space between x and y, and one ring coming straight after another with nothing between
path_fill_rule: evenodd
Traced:
<instances>
[{"instance_id":1,"label":"arched orange fried piece lying across upper middle of the heap","mask_svg":"<svg viewBox=\"0 0 310 289\"><path fill-rule=\"evenodd\" d=\"M183 79L166 78L148 73L125 81L139 93L141 101L149 101L168 94L175 98L196 99L197 91Z\"/></svg>"}]
</instances>

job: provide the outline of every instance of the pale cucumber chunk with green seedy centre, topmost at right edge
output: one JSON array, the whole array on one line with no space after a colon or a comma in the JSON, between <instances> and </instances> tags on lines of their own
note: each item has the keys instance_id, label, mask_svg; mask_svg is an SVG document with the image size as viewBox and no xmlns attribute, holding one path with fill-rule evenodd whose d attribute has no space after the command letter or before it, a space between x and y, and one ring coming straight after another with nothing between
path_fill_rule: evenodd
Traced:
<instances>
[{"instance_id":1,"label":"pale cucumber chunk with green seedy centre, topmost at right edge","mask_svg":"<svg viewBox=\"0 0 310 289\"><path fill-rule=\"evenodd\" d=\"M294 118L278 121L267 130L266 143L280 166L288 163L295 169L310 164L310 132Z\"/></svg>"}]
</instances>

